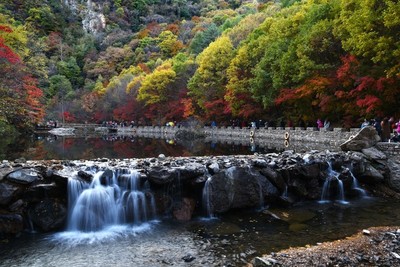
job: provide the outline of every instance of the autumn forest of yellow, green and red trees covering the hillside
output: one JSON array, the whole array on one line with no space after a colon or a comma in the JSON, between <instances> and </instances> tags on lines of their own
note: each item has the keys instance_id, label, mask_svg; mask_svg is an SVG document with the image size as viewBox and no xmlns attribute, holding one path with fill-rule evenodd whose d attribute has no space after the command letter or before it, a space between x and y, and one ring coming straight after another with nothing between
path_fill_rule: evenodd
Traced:
<instances>
[{"instance_id":1,"label":"autumn forest of yellow, green and red trees covering the hillside","mask_svg":"<svg viewBox=\"0 0 400 267\"><path fill-rule=\"evenodd\" d=\"M397 0L2 0L0 132L399 118L399 33Z\"/></svg>"}]
</instances>

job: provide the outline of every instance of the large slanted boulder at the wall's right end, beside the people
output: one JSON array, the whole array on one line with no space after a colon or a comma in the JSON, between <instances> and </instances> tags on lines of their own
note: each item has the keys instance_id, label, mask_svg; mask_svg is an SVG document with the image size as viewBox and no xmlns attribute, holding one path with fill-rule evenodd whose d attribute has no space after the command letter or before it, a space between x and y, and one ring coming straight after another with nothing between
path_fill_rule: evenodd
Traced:
<instances>
[{"instance_id":1,"label":"large slanted boulder at the wall's right end, beside the people","mask_svg":"<svg viewBox=\"0 0 400 267\"><path fill-rule=\"evenodd\" d=\"M361 151L362 149L373 147L380 139L375 127L367 126L341 144L340 149L343 151Z\"/></svg>"}]
</instances>

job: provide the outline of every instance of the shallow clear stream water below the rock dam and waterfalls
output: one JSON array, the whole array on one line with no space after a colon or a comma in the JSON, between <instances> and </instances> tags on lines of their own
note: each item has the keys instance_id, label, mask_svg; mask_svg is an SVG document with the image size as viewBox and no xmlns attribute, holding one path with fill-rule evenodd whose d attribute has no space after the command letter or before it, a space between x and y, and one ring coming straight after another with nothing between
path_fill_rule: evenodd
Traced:
<instances>
[{"instance_id":1,"label":"shallow clear stream water below the rock dam and waterfalls","mask_svg":"<svg viewBox=\"0 0 400 267\"><path fill-rule=\"evenodd\" d=\"M181 223L169 218L101 232L23 234L0 244L0 266L244 266L256 256L332 241L371 226L400 225L400 203L301 203L268 212L238 211ZM284 215L289 214L288 217ZM185 256L194 257L185 262Z\"/></svg>"}]
</instances>

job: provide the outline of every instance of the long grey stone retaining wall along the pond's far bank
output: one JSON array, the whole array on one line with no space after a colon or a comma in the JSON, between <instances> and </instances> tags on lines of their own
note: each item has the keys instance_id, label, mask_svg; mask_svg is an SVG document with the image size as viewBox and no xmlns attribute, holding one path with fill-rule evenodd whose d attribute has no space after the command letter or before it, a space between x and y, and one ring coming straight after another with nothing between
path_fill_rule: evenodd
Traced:
<instances>
[{"instance_id":1,"label":"long grey stone retaining wall along the pond's far bank","mask_svg":"<svg viewBox=\"0 0 400 267\"><path fill-rule=\"evenodd\" d=\"M134 134L148 138L174 139L180 127L138 126L120 127L120 134ZM315 127L299 128L240 128L240 127L204 127L198 130L207 142L228 143L235 145L255 145L278 151L293 149L307 151L309 149L338 150L339 145L355 135L359 128L331 128L318 130Z\"/></svg>"}]
</instances>

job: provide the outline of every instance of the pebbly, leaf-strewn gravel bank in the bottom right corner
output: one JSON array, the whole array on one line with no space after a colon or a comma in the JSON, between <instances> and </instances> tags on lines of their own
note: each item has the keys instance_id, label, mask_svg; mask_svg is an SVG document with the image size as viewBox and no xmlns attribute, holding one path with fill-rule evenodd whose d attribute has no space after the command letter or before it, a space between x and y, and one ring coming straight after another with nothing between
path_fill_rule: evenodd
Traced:
<instances>
[{"instance_id":1,"label":"pebbly, leaf-strewn gravel bank in the bottom right corner","mask_svg":"<svg viewBox=\"0 0 400 267\"><path fill-rule=\"evenodd\" d=\"M343 240L255 258L252 266L400 266L400 226L373 227Z\"/></svg>"}]
</instances>

